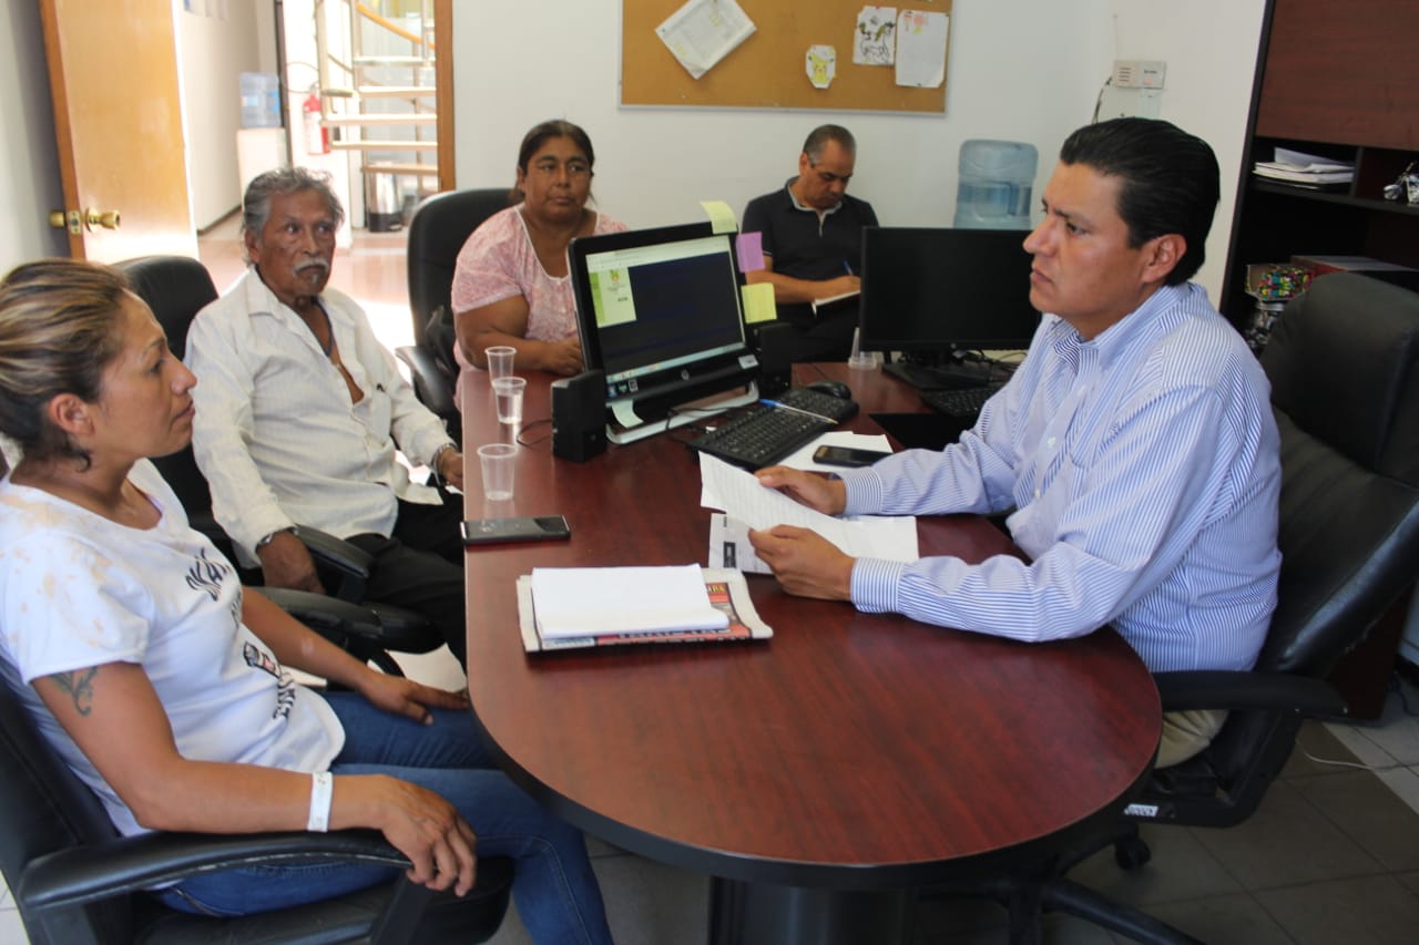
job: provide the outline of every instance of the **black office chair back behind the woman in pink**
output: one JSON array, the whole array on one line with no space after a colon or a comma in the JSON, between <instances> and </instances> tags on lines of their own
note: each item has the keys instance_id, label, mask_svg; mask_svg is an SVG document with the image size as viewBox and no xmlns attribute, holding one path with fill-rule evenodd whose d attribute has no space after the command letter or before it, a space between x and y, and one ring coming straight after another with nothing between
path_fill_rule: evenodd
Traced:
<instances>
[{"instance_id":1,"label":"black office chair back behind the woman in pink","mask_svg":"<svg viewBox=\"0 0 1419 945\"><path fill-rule=\"evenodd\" d=\"M427 197L409 221L409 311L414 343L394 355L409 365L414 394L463 438L463 421L453 400L458 363L453 359L454 329L450 291L458 250L484 220L508 206L501 187L446 190Z\"/></svg>"}]
</instances>

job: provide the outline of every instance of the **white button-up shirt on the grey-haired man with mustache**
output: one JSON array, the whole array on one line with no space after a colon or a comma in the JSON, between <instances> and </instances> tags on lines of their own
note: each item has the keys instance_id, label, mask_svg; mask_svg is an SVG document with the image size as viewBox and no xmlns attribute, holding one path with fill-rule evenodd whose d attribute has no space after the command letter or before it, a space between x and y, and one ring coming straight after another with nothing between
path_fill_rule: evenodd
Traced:
<instances>
[{"instance_id":1,"label":"white button-up shirt on the grey-haired man with mustache","mask_svg":"<svg viewBox=\"0 0 1419 945\"><path fill-rule=\"evenodd\" d=\"M207 305L187 332L197 376L193 453L211 487L217 524L254 563L255 543L291 525L339 538L389 535L396 498L427 505L437 490L409 480L396 458L431 463L448 444L443 423L414 397L369 319L335 289L321 295L349 387L299 315L255 268Z\"/></svg>"}]
</instances>

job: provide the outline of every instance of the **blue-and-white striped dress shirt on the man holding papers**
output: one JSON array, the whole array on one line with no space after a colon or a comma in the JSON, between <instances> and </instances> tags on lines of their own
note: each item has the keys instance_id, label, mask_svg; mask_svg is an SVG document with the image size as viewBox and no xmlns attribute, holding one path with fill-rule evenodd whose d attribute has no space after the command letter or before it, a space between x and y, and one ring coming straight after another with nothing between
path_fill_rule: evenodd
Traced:
<instances>
[{"instance_id":1,"label":"blue-and-white striped dress shirt on the man holding papers","mask_svg":"<svg viewBox=\"0 0 1419 945\"><path fill-rule=\"evenodd\" d=\"M1013 508L1032 560L858 559L853 603L1016 640L1112 623L1154 671L1250 668L1280 569L1269 397L1196 285L1090 341L1046 315L959 443L843 474L849 514Z\"/></svg>"}]
</instances>

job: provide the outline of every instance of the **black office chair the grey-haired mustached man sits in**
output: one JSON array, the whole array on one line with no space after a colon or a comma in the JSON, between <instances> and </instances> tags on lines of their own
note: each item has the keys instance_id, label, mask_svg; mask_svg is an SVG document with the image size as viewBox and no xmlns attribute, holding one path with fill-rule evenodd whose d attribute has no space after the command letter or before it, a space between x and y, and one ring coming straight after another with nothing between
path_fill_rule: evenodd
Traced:
<instances>
[{"instance_id":1,"label":"black office chair the grey-haired mustached man sits in","mask_svg":"<svg viewBox=\"0 0 1419 945\"><path fill-rule=\"evenodd\" d=\"M169 346L179 355L187 348L187 326L204 305L217 298L207 268L184 255L148 255L118 262L167 333ZM211 492L207 480L193 458L192 447L172 455L155 458L153 464L177 494L194 529L207 535L230 559L231 541L211 514ZM365 599L365 589L375 566L375 558L355 545L328 532L301 526L301 541L329 578L332 596L311 595L284 587L263 589L267 596L301 621L322 631L360 661L375 663L386 673L402 675L399 664L389 656L396 653L431 653L443 646L443 637L421 614L380 602ZM362 604L341 607L341 602ZM375 620L372 623L370 614Z\"/></svg>"}]
</instances>

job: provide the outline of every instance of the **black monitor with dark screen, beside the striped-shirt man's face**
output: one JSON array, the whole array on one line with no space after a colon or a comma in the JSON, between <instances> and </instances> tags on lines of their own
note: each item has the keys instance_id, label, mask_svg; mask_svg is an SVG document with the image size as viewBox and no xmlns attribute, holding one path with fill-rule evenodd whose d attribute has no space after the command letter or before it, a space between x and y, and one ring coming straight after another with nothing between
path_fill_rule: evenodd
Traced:
<instances>
[{"instance_id":1,"label":"black monitor with dark screen, beside the striped-shirt man's face","mask_svg":"<svg viewBox=\"0 0 1419 945\"><path fill-rule=\"evenodd\" d=\"M1023 230L863 230L861 349L932 360L965 350L1029 348L1040 315L1030 305L1026 236Z\"/></svg>"}]
</instances>

